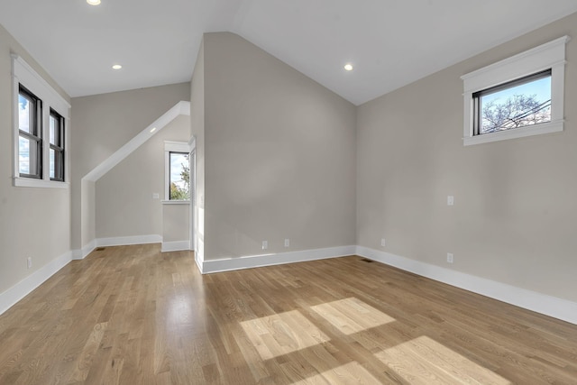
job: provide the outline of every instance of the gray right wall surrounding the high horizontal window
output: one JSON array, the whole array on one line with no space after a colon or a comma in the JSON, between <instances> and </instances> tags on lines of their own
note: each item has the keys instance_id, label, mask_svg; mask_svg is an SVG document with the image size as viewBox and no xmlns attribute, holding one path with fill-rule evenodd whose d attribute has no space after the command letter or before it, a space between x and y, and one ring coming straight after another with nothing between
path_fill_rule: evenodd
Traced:
<instances>
[{"instance_id":1,"label":"gray right wall surrounding the high horizontal window","mask_svg":"<svg viewBox=\"0 0 577 385\"><path fill-rule=\"evenodd\" d=\"M577 36L577 14L359 107L358 244L577 300L577 41L563 133L462 142L460 77L565 34Z\"/></svg>"}]
</instances>

